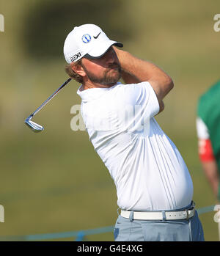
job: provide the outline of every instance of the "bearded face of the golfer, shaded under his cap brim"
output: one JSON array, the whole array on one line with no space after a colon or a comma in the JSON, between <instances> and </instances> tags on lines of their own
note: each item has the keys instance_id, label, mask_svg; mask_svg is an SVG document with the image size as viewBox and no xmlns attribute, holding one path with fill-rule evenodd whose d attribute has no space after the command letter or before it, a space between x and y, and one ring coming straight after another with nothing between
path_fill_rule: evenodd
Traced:
<instances>
[{"instance_id":1,"label":"bearded face of the golfer, shaded under his cap brim","mask_svg":"<svg viewBox=\"0 0 220 256\"><path fill-rule=\"evenodd\" d=\"M83 58L81 66L92 83L102 84L104 87L113 86L121 77L120 62L112 47L99 59Z\"/></svg>"}]
</instances>

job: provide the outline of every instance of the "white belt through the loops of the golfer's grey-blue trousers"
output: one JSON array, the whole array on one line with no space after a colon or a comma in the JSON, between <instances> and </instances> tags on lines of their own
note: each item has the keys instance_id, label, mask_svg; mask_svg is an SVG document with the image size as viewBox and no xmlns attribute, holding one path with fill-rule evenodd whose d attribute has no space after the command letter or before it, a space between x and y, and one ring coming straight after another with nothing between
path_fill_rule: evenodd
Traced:
<instances>
[{"instance_id":1,"label":"white belt through the loops of the golfer's grey-blue trousers","mask_svg":"<svg viewBox=\"0 0 220 256\"><path fill-rule=\"evenodd\" d=\"M121 211L121 216L130 219L132 211ZM189 219L195 214L194 208L184 211L133 211L132 219L136 220L175 220ZM164 216L164 217L163 217Z\"/></svg>"}]
</instances>

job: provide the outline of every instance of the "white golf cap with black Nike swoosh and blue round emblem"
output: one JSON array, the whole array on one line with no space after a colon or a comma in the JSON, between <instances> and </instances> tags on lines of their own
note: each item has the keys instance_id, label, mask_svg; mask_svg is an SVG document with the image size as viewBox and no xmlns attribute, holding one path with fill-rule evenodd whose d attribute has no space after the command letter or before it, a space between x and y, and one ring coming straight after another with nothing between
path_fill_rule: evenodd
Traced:
<instances>
[{"instance_id":1,"label":"white golf cap with black Nike swoosh and blue round emblem","mask_svg":"<svg viewBox=\"0 0 220 256\"><path fill-rule=\"evenodd\" d=\"M100 58L111 45L122 47L122 43L112 41L94 24L75 26L67 35L64 44L64 55L67 63L76 62L82 57Z\"/></svg>"}]
</instances>

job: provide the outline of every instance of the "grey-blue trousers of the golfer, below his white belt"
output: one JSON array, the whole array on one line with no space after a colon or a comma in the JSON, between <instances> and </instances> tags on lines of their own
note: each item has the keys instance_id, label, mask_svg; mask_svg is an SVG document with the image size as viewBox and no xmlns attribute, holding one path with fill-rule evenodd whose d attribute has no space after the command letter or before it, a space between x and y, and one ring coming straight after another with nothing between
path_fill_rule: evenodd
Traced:
<instances>
[{"instance_id":1,"label":"grey-blue trousers of the golfer, below his white belt","mask_svg":"<svg viewBox=\"0 0 220 256\"><path fill-rule=\"evenodd\" d=\"M197 211L191 219L139 221L118 216L115 241L205 241Z\"/></svg>"}]
</instances>

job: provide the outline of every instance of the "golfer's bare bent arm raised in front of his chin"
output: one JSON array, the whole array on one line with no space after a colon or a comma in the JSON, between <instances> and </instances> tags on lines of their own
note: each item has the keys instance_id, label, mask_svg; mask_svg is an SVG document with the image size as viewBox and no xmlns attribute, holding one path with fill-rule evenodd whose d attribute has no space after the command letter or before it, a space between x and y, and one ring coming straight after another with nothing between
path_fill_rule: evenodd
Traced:
<instances>
[{"instance_id":1,"label":"golfer's bare bent arm raised in front of his chin","mask_svg":"<svg viewBox=\"0 0 220 256\"><path fill-rule=\"evenodd\" d=\"M151 62L136 58L128 51L122 51L118 48L115 48L115 51L122 70L134 76L138 81L149 81L159 102L161 102L173 87L172 79L161 68Z\"/></svg>"}]
</instances>

